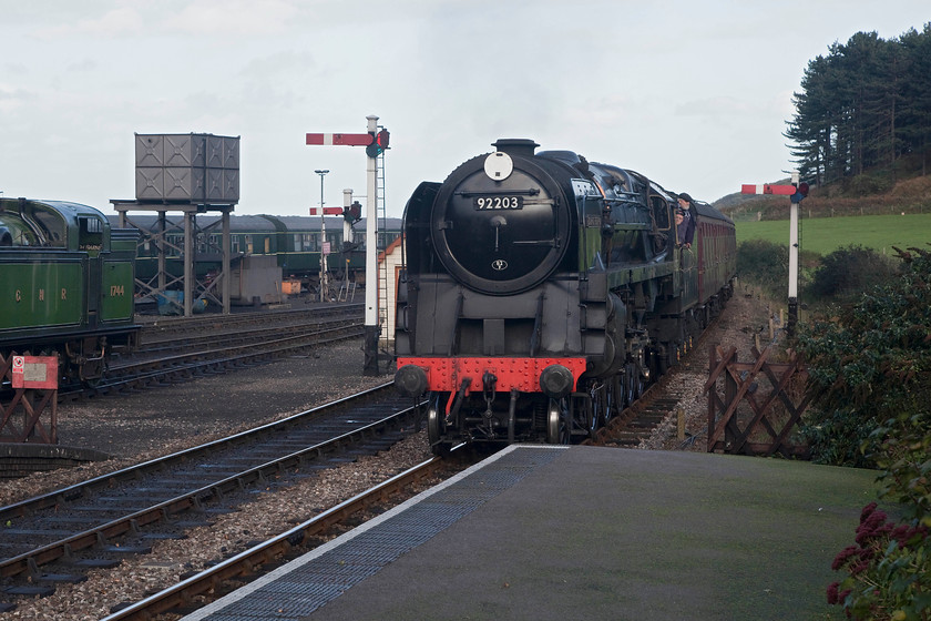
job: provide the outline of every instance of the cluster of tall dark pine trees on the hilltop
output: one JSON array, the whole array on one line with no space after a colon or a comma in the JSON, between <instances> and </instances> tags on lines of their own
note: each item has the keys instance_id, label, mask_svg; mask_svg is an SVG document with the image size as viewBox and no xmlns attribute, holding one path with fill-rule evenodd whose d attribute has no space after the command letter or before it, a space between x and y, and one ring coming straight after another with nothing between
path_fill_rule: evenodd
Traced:
<instances>
[{"instance_id":1,"label":"cluster of tall dark pine trees on the hilltop","mask_svg":"<svg viewBox=\"0 0 931 621\"><path fill-rule=\"evenodd\" d=\"M903 156L927 173L931 152L931 22L890 40L858 32L808 62L785 136L804 180L818 185ZM918 166L918 164L917 164Z\"/></svg>"}]
</instances>

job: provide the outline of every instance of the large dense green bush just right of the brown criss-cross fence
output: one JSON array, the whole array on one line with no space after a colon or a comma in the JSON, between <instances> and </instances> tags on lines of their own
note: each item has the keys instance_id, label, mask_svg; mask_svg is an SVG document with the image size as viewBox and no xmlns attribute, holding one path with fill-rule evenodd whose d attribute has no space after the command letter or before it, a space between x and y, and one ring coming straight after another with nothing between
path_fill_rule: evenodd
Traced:
<instances>
[{"instance_id":1,"label":"large dense green bush just right of the brown criss-cross fence","mask_svg":"<svg viewBox=\"0 0 931 621\"><path fill-rule=\"evenodd\" d=\"M822 461L876 466L882 439L877 428L928 407L915 389L931 373L931 255L914 250L899 256L899 277L836 318L799 329L818 407L806 432Z\"/></svg>"}]
</instances>

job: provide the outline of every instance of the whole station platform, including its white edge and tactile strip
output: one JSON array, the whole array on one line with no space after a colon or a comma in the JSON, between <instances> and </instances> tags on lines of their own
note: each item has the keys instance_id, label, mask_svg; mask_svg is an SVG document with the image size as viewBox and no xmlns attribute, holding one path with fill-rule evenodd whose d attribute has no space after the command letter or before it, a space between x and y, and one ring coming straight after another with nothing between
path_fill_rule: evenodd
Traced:
<instances>
[{"instance_id":1,"label":"whole station platform, including its white edge and tactile strip","mask_svg":"<svg viewBox=\"0 0 931 621\"><path fill-rule=\"evenodd\" d=\"M515 446L183 621L840 619L876 472Z\"/></svg>"}]
</instances>

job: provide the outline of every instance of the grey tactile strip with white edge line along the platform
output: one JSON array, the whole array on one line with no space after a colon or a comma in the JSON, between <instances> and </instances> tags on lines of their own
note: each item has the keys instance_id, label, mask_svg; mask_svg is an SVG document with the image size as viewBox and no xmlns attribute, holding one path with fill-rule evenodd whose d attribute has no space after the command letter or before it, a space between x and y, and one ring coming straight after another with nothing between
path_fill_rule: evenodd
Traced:
<instances>
[{"instance_id":1,"label":"grey tactile strip with white edge line along the platform","mask_svg":"<svg viewBox=\"0 0 931 621\"><path fill-rule=\"evenodd\" d=\"M553 461L566 448L511 446L181 621L303 619ZM479 480L484 482L477 483Z\"/></svg>"}]
</instances>

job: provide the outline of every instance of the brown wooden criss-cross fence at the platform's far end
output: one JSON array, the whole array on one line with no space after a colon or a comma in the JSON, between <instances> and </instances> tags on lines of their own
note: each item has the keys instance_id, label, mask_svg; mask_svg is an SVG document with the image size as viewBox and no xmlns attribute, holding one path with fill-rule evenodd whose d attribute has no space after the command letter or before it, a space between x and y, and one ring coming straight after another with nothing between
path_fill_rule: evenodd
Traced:
<instances>
[{"instance_id":1,"label":"brown wooden criss-cross fence at the platform's far end","mask_svg":"<svg viewBox=\"0 0 931 621\"><path fill-rule=\"evenodd\" d=\"M797 354L788 363L770 363L771 347L754 347L754 363L738 363L737 348L710 348L708 381L708 452L786 457L810 456L798 423L810 397L808 377Z\"/></svg>"}]
</instances>

